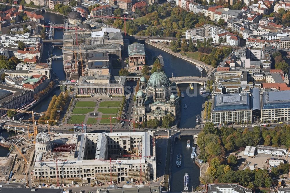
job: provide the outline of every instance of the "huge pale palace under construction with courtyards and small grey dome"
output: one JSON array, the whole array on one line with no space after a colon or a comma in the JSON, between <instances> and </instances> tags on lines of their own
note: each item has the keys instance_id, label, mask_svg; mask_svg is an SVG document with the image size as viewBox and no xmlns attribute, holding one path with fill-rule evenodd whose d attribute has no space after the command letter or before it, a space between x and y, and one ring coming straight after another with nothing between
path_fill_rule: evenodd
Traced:
<instances>
[{"instance_id":1,"label":"huge pale palace under construction with courtyards and small grey dome","mask_svg":"<svg viewBox=\"0 0 290 193\"><path fill-rule=\"evenodd\" d=\"M35 185L156 179L155 132L41 132L35 152Z\"/></svg>"}]
</instances>

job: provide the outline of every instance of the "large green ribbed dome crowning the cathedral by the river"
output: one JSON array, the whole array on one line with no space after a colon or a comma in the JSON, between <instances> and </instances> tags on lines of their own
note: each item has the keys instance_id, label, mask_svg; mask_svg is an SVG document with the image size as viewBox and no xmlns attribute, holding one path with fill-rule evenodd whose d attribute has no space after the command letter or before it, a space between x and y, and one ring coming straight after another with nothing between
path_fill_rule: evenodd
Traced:
<instances>
[{"instance_id":1,"label":"large green ribbed dome crowning the cathedral by the river","mask_svg":"<svg viewBox=\"0 0 290 193\"><path fill-rule=\"evenodd\" d=\"M157 70L157 72L154 72L150 76L147 85L155 88L162 88L163 86L169 87L170 80L164 72L160 72L160 70Z\"/></svg>"}]
</instances>

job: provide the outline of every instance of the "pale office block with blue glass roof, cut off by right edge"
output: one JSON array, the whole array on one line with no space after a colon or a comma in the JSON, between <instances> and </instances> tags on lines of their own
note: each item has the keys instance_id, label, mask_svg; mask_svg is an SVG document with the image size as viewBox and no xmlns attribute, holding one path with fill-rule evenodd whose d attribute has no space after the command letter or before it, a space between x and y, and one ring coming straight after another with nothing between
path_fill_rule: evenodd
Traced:
<instances>
[{"instance_id":1,"label":"pale office block with blue glass roof, cut off by right edge","mask_svg":"<svg viewBox=\"0 0 290 193\"><path fill-rule=\"evenodd\" d=\"M261 121L290 120L290 90L263 92Z\"/></svg>"}]
</instances>

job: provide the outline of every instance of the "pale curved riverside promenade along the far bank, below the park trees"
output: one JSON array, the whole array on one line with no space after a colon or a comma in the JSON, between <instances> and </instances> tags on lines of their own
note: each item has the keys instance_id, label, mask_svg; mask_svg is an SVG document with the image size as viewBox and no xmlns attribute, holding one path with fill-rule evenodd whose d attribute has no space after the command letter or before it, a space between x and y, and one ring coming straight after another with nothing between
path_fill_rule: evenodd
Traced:
<instances>
[{"instance_id":1,"label":"pale curved riverside promenade along the far bank, below the park trees","mask_svg":"<svg viewBox=\"0 0 290 193\"><path fill-rule=\"evenodd\" d=\"M149 44L154 46L155 48L159 48L159 49L163 50L164 52L167 52L167 53L174 55L178 58L189 61L189 62L193 63L194 65L198 65L198 66L202 67L206 71L207 75L211 74L216 69L216 68L213 68L211 65L207 65L206 63L204 63L202 61L198 61L198 60L189 58L187 56L183 56L180 53L172 52L171 49L166 48L165 46L162 45L162 43L149 43Z\"/></svg>"}]
</instances>

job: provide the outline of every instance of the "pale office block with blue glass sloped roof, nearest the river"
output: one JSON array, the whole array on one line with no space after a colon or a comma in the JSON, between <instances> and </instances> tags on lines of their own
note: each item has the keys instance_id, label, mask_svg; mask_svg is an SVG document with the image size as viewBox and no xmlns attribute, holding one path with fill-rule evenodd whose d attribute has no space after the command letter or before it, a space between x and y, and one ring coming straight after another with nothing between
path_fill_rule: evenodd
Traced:
<instances>
[{"instance_id":1,"label":"pale office block with blue glass sloped roof, nearest the river","mask_svg":"<svg viewBox=\"0 0 290 193\"><path fill-rule=\"evenodd\" d=\"M213 97L212 123L252 121L252 101L249 93L217 94Z\"/></svg>"}]
</instances>

